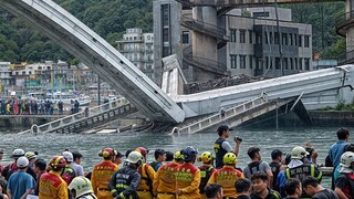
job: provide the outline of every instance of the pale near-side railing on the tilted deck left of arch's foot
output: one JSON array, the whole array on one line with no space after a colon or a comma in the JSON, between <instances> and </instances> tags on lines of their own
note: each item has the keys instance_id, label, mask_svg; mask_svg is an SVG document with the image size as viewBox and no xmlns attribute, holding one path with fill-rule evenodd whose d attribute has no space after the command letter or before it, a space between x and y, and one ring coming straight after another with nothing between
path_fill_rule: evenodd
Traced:
<instances>
[{"instance_id":1,"label":"pale near-side railing on the tilted deck left of arch's foot","mask_svg":"<svg viewBox=\"0 0 354 199\"><path fill-rule=\"evenodd\" d=\"M122 102L121 100L112 101L105 104L102 104L100 106L95 106L92 108L84 108L83 111L62 117L60 119L43 124L43 125L32 125L31 129L21 132L19 134L27 134L27 133L42 133L42 132L48 132L48 130L55 130L58 128L61 128L64 125L69 125L75 122L79 122L84 118L88 118L92 116L95 116L97 114L102 114L104 112L108 112L110 109L114 108L122 108L122 112L128 111L133 108L132 104L127 104L126 102ZM119 111L121 112L121 111Z\"/></svg>"}]
</instances>

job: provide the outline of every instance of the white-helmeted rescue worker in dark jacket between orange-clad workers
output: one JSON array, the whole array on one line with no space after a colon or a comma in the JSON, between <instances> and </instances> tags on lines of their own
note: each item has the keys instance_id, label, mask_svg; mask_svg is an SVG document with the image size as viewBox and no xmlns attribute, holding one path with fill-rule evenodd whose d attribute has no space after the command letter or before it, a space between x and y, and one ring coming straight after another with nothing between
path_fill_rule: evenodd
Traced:
<instances>
[{"instance_id":1,"label":"white-helmeted rescue worker in dark jacket between orange-clad workers","mask_svg":"<svg viewBox=\"0 0 354 199\"><path fill-rule=\"evenodd\" d=\"M143 156L139 151L131 151L126 161L128 164L125 167L112 175L108 188L117 199L138 199L136 191L142 177L137 168L143 164Z\"/></svg>"}]
</instances>

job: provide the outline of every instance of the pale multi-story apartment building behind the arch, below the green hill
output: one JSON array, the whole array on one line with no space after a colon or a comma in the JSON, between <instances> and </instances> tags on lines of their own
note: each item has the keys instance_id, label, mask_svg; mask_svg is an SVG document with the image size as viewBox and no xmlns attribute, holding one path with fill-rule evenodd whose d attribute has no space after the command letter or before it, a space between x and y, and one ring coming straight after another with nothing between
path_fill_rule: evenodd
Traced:
<instances>
[{"instance_id":1,"label":"pale multi-story apartment building behind the arch, below the green hill","mask_svg":"<svg viewBox=\"0 0 354 199\"><path fill-rule=\"evenodd\" d=\"M127 29L123 40L117 41L117 50L155 81L154 33L143 33L143 30L137 28Z\"/></svg>"}]
</instances>

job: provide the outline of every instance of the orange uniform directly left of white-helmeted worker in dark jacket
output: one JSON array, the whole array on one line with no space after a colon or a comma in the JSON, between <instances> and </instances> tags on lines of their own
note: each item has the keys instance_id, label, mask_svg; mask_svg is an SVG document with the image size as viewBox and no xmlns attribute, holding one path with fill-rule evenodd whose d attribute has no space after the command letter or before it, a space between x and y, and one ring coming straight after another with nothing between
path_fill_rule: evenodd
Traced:
<instances>
[{"instance_id":1,"label":"orange uniform directly left of white-helmeted worker in dark jacket","mask_svg":"<svg viewBox=\"0 0 354 199\"><path fill-rule=\"evenodd\" d=\"M114 171L118 170L118 166L112 163L112 160L103 160L101 164L97 164L91 176L91 184L94 193L98 199L108 199L113 198L108 189L108 184Z\"/></svg>"}]
</instances>

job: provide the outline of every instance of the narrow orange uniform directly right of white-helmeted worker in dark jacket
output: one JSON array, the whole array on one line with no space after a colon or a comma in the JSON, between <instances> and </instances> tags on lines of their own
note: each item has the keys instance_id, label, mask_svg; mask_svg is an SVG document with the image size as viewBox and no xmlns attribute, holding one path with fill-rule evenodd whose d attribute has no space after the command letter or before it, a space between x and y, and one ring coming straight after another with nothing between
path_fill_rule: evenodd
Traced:
<instances>
[{"instance_id":1,"label":"narrow orange uniform directly right of white-helmeted worker in dark jacket","mask_svg":"<svg viewBox=\"0 0 354 199\"><path fill-rule=\"evenodd\" d=\"M152 166L147 164L143 164L137 171L142 176L142 181L137 187L137 193L139 195L140 199L153 199L153 195L150 187L153 188L153 181L155 177L155 170Z\"/></svg>"}]
</instances>

